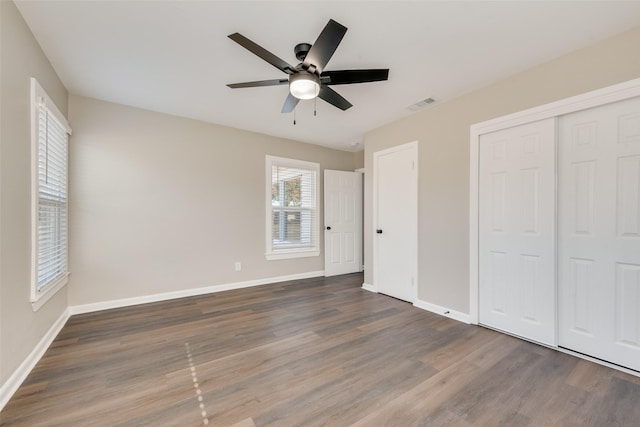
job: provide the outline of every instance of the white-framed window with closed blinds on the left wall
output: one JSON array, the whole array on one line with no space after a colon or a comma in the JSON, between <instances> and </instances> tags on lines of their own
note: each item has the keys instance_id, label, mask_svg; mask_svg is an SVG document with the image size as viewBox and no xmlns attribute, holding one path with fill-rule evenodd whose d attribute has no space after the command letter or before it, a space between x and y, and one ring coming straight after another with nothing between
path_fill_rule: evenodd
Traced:
<instances>
[{"instance_id":1,"label":"white-framed window with closed blinds on the left wall","mask_svg":"<svg viewBox=\"0 0 640 427\"><path fill-rule=\"evenodd\" d=\"M67 283L67 150L71 129L31 79L32 280L38 309Z\"/></svg>"}]
</instances>

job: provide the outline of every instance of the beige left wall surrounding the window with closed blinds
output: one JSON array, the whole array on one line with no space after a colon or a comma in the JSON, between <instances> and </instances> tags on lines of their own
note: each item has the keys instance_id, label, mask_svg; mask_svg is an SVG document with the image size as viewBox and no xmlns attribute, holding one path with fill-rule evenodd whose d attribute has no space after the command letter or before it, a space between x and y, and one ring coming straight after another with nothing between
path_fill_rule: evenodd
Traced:
<instances>
[{"instance_id":1,"label":"beige left wall surrounding the window with closed blinds","mask_svg":"<svg viewBox=\"0 0 640 427\"><path fill-rule=\"evenodd\" d=\"M67 308L60 290L34 313L31 262L30 78L36 77L60 111L67 91L13 2L0 1L0 386Z\"/></svg>"}]
</instances>

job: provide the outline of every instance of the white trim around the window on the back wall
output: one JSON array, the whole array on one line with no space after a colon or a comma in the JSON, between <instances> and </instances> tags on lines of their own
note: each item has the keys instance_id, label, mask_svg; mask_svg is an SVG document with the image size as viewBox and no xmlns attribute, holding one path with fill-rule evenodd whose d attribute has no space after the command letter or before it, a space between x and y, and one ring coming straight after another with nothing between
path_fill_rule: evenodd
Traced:
<instances>
[{"instance_id":1,"label":"white trim around the window on the back wall","mask_svg":"<svg viewBox=\"0 0 640 427\"><path fill-rule=\"evenodd\" d=\"M308 169L315 174L315 217L316 221L313 227L315 236L314 246L311 248L289 248L289 249L273 249L273 236L271 234L271 222L273 215L273 207L271 204L271 168L273 165L290 166L293 168ZM265 157L265 257L267 260L291 259L320 256L320 164L308 162L305 160L290 159L286 157L277 157L266 155Z\"/></svg>"}]
</instances>

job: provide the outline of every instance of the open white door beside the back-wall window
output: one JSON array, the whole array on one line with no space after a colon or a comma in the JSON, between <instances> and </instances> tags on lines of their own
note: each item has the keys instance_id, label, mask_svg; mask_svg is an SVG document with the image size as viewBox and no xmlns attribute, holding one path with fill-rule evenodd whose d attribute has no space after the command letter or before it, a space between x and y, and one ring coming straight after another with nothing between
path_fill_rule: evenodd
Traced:
<instances>
[{"instance_id":1,"label":"open white door beside the back-wall window","mask_svg":"<svg viewBox=\"0 0 640 427\"><path fill-rule=\"evenodd\" d=\"M324 171L324 275L360 271L362 174Z\"/></svg>"}]
</instances>

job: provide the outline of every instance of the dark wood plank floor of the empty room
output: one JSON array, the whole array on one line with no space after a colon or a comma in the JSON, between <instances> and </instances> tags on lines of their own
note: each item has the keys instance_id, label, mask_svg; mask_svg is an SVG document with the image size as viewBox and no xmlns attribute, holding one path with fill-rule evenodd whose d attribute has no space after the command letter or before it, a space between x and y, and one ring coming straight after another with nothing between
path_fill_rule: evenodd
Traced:
<instances>
[{"instance_id":1,"label":"dark wood plank floor of the empty room","mask_svg":"<svg viewBox=\"0 0 640 427\"><path fill-rule=\"evenodd\" d=\"M639 426L640 378L360 288L73 316L3 426Z\"/></svg>"}]
</instances>

